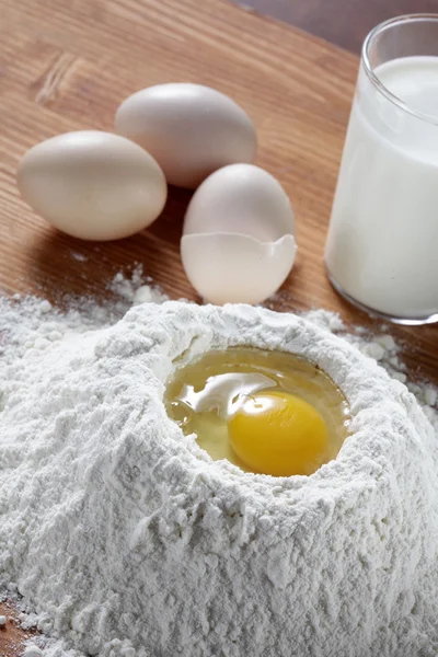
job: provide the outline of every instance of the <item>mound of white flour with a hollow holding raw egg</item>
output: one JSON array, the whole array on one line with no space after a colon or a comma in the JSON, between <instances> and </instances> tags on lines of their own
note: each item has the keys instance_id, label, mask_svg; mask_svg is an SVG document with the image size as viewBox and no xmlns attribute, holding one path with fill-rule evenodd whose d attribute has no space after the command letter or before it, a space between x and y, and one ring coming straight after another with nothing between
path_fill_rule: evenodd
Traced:
<instances>
[{"instance_id":1,"label":"mound of white flour with a hollow holding raw egg","mask_svg":"<svg viewBox=\"0 0 438 657\"><path fill-rule=\"evenodd\" d=\"M324 311L146 303L108 326L26 303L0 362L0 580L59 637L47 657L437 655L434 389L424 412ZM349 337L397 368L379 339ZM243 473L166 417L175 361L235 345L332 376L354 415L335 461Z\"/></svg>"}]
</instances>

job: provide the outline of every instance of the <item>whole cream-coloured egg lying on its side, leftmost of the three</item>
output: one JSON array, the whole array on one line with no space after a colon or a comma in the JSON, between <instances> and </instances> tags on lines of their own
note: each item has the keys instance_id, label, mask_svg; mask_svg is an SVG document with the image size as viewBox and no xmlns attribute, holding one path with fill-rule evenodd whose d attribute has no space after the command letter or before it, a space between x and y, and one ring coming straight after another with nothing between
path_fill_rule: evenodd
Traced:
<instances>
[{"instance_id":1,"label":"whole cream-coloured egg lying on its side, leftmost of the three","mask_svg":"<svg viewBox=\"0 0 438 657\"><path fill-rule=\"evenodd\" d=\"M100 130L37 143L20 162L18 184L38 215L83 240L117 240L142 230L168 195L164 174L149 153Z\"/></svg>"}]
</instances>

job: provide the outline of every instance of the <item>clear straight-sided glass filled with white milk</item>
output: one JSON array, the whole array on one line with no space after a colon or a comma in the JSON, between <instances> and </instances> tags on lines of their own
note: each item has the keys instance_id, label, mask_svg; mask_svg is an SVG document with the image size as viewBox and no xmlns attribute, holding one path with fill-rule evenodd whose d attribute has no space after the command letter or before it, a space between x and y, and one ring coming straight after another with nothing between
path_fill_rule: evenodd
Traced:
<instances>
[{"instance_id":1,"label":"clear straight-sided glass filled with white milk","mask_svg":"<svg viewBox=\"0 0 438 657\"><path fill-rule=\"evenodd\" d=\"M387 21L365 41L325 263L371 314L438 321L438 14Z\"/></svg>"}]
</instances>

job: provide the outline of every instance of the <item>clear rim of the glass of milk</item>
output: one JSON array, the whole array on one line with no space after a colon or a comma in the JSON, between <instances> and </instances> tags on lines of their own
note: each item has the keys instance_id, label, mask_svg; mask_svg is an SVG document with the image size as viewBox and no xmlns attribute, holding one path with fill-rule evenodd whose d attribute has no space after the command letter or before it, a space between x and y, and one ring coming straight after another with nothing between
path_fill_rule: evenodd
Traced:
<instances>
[{"instance_id":1,"label":"clear rim of the glass of milk","mask_svg":"<svg viewBox=\"0 0 438 657\"><path fill-rule=\"evenodd\" d=\"M373 67L371 66L370 58L369 58L369 49L372 45L372 42L374 41L374 37L378 34L380 34L381 32L384 32L385 30L388 30L389 27L392 27L393 25L397 25L397 24L402 24L402 23L415 23L415 22L420 22L420 21L430 21L430 22L438 24L438 13L404 14L401 16L395 16L393 19L389 19L388 21L383 21L382 23L379 23L366 36L366 38L364 41L362 49L361 49L360 60L361 60L361 64L364 65L365 72L367 73L367 77L370 80L371 84L373 84L376 87L376 89L378 91L380 91L380 93L382 95L384 95L391 103L393 103L394 105L396 105L397 107L400 107L401 110L406 112L407 114L411 114L412 116L415 116L416 118L418 118L420 120L424 120L434 126L438 126L438 116L435 117L435 116L431 116L430 114L425 114L423 112L418 112L417 110L414 110L407 103L402 101L402 99L399 99L397 95L395 95L389 89L387 89L387 87L383 84L383 82L381 82L381 80L379 80L378 76L374 73Z\"/></svg>"}]
</instances>

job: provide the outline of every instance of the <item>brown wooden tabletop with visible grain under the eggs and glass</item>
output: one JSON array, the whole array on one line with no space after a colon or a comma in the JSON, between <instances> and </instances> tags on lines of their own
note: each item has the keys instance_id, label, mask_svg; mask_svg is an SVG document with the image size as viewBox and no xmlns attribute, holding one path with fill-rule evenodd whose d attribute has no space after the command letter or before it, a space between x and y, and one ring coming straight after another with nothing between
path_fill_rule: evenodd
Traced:
<instances>
[{"instance_id":1,"label":"brown wooden tabletop with visible grain under the eggs and glass","mask_svg":"<svg viewBox=\"0 0 438 657\"><path fill-rule=\"evenodd\" d=\"M295 206L298 262L274 307L324 307L376 328L333 291L323 267L357 55L258 11L357 53L387 14L438 11L438 0L252 0L257 11L244 1L246 9L227 0L0 0L0 288L62 303L70 292L105 295L116 272L142 263L170 296L195 298L178 254L187 192L171 189L150 230L92 244L50 229L15 187L18 162L33 143L68 130L111 130L118 103L134 90L195 81L230 94L252 116L257 164L281 182ZM410 374L438 382L438 328L391 331L405 342ZM12 625L0 631L7 657L20 652Z\"/></svg>"}]
</instances>

